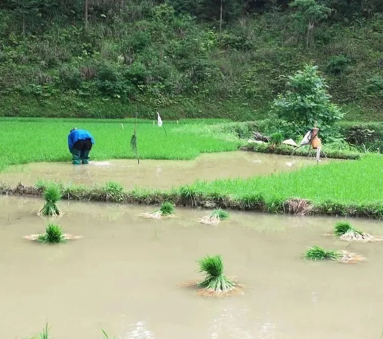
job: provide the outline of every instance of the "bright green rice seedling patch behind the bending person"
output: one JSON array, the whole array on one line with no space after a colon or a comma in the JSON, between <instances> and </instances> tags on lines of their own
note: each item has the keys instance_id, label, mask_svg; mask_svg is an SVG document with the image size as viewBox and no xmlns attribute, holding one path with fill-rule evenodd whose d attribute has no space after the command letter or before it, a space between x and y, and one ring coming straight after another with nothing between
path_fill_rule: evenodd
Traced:
<instances>
[{"instance_id":1,"label":"bright green rice seedling patch behind the bending person","mask_svg":"<svg viewBox=\"0 0 383 339\"><path fill-rule=\"evenodd\" d=\"M223 120L181 120L164 122L138 120L137 142L140 159L194 159L201 153L234 151L243 141L214 133ZM0 170L13 164L41 161L70 161L67 135L77 127L88 130L95 139L91 160L133 159L130 137L134 119L44 119L0 118ZM124 126L124 129L122 127Z\"/></svg>"}]
</instances>

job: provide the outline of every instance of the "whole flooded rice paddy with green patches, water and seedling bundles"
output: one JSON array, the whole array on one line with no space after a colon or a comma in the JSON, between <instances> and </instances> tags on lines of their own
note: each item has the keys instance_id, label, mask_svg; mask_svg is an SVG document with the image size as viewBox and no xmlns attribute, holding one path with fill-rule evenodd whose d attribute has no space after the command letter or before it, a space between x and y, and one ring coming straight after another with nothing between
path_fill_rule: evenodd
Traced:
<instances>
[{"instance_id":1,"label":"whole flooded rice paddy with green patches, water and seedling bundles","mask_svg":"<svg viewBox=\"0 0 383 339\"><path fill-rule=\"evenodd\" d=\"M131 119L0 124L1 338L380 336L380 154L243 152L220 120L139 120L138 164Z\"/></svg>"}]
</instances>

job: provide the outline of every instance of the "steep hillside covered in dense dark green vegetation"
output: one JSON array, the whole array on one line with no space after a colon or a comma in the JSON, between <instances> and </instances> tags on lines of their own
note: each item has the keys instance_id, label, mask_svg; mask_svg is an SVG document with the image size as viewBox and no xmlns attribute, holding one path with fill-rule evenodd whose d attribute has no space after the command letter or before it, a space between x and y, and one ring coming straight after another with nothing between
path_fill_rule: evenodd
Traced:
<instances>
[{"instance_id":1,"label":"steep hillside covered in dense dark green vegetation","mask_svg":"<svg viewBox=\"0 0 383 339\"><path fill-rule=\"evenodd\" d=\"M383 118L380 0L86 2L86 27L83 0L2 2L0 115L266 118L308 63L347 119Z\"/></svg>"}]
</instances>

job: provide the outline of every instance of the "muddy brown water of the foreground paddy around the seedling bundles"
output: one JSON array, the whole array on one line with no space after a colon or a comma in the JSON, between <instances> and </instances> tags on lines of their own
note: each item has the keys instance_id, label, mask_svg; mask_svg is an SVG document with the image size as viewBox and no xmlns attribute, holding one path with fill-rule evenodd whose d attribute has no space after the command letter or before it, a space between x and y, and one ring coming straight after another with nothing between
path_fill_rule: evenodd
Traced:
<instances>
[{"instance_id":1,"label":"muddy brown water of the foreground paddy around the seedling bundles","mask_svg":"<svg viewBox=\"0 0 383 339\"><path fill-rule=\"evenodd\" d=\"M61 203L59 223L80 240L43 246L37 198L0 197L0 337L28 337L45 322L55 339L361 339L380 337L383 244L324 237L338 219L231 212L218 226L208 211L176 209L142 219L153 206ZM383 235L383 223L354 219ZM302 260L307 246L347 249L357 264ZM201 278L196 259L222 254L244 296L206 299L179 283Z\"/></svg>"}]
</instances>

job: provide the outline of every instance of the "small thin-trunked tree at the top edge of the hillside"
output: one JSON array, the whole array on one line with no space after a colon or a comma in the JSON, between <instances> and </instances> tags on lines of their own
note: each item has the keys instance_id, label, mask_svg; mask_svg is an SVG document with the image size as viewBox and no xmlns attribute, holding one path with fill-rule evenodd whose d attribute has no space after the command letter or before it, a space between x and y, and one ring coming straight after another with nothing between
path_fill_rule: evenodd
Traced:
<instances>
[{"instance_id":1,"label":"small thin-trunked tree at the top edge of the hillside","mask_svg":"<svg viewBox=\"0 0 383 339\"><path fill-rule=\"evenodd\" d=\"M331 9L319 4L316 0L294 0L290 6L296 9L293 17L297 19L302 26L306 27L306 47L308 48L308 42L310 36L313 37L315 25L319 21L327 18L331 13Z\"/></svg>"}]
</instances>

